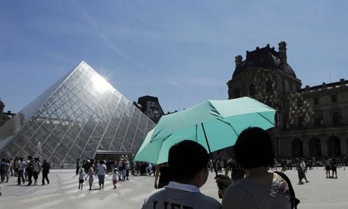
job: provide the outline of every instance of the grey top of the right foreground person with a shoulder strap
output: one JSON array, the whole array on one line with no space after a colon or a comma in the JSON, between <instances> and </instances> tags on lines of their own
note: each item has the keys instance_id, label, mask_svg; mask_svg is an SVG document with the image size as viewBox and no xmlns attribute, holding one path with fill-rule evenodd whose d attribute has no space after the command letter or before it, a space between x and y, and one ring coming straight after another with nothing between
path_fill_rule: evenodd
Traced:
<instances>
[{"instance_id":1,"label":"grey top of the right foreground person with a shoulder strap","mask_svg":"<svg viewBox=\"0 0 348 209\"><path fill-rule=\"evenodd\" d=\"M223 208L284 208L290 209L290 190L278 176L271 185L258 185L252 180L237 180L226 189Z\"/></svg>"}]
</instances>

